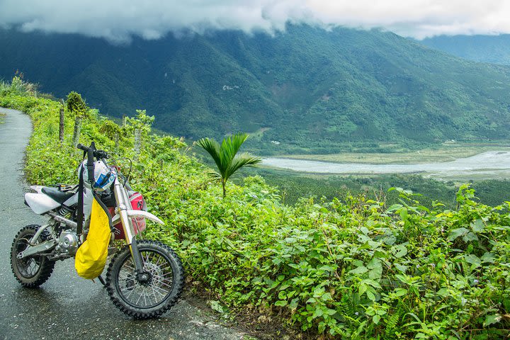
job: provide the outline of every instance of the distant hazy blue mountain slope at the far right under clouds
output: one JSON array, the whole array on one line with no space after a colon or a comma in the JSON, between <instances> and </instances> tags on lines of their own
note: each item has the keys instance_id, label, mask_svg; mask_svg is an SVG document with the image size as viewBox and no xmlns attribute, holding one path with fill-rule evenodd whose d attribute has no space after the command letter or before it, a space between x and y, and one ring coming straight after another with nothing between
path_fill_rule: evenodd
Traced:
<instances>
[{"instance_id":1,"label":"distant hazy blue mountain slope at the far right under clouds","mask_svg":"<svg viewBox=\"0 0 510 340\"><path fill-rule=\"evenodd\" d=\"M439 35L420 42L467 60L510 65L510 34Z\"/></svg>"}]
</instances>

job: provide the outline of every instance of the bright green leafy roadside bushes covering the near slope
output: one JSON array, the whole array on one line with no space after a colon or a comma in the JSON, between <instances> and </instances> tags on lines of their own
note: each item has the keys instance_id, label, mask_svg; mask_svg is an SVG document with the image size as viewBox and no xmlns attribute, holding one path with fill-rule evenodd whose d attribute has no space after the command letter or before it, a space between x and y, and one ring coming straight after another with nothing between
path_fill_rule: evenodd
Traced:
<instances>
[{"instance_id":1,"label":"bright green leafy roadside bushes covering the near slope","mask_svg":"<svg viewBox=\"0 0 510 340\"><path fill-rule=\"evenodd\" d=\"M33 120L28 181L75 183L81 154L70 146L72 116L66 113L60 145L61 104L22 88L2 84L0 106ZM176 249L188 282L207 291L215 309L263 316L259 322L272 317L304 331L295 337L509 336L510 203L479 204L462 186L455 210L438 204L429 210L400 188L391 206L365 196L289 206L260 176L243 186L228 183L222 199L205 166L186 156L176 138L152 135L148 121L139 111L121 127L90 111L80 142L95 140L114 157L133 157L132 129L142 128L132 184L166 222L145 237Z\"/></svg>"}]
</instances>

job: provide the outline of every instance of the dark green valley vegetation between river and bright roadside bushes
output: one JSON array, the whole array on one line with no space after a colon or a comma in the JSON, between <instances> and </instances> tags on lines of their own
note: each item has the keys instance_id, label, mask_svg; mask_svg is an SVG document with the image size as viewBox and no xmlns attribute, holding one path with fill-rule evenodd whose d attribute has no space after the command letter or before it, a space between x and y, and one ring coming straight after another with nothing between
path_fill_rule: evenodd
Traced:
<instances>
[{"instance_id":1,"label":"dark green valley vegetation between river and bright roadside bushes","mask_svg":"<svg viewBox=\"0 0 510 340\"><path fill-rule=\"evenodd\" d=\"M363 195L372 200L385 200L387 205L399 203L399 194L387 192L389 188L407 188L420 193L414 199L426 208L441 202L445 209L455 209L455 193L460 183L437 181L416 174L385 175L324 175L296 174L292 171L271 169L246 169L245 174L259 174L266 183L278 186L285 203L294 205L303 197L332 200L349 195ZM239 180L238 180L239 181ZM239 182L240 183L240 182ZM510 200L509 180L484 180L471 183L477 193L478 202L487 205L500 205ZM324 196L324 198L322 197Z\"/></svg>"}]
</instances>

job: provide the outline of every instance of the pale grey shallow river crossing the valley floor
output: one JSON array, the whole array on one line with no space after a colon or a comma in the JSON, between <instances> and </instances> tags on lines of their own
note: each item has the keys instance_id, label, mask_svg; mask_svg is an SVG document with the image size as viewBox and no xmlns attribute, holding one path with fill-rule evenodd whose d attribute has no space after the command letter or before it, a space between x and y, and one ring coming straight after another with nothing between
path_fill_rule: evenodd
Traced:
<instances>
[{"instance_id":1,"label":"pale grey shallow river crossing the valley floor","mask_svg":"<svg viewBox=\"0 0 510 340\"><path fill-rule=\"evenodd\" d=\"M315 174L424 174L436 179L506 179L510 152L489 151L451 162L421 164L334 163L269 157L263 166Z\"/></svg>"}]
</instances>

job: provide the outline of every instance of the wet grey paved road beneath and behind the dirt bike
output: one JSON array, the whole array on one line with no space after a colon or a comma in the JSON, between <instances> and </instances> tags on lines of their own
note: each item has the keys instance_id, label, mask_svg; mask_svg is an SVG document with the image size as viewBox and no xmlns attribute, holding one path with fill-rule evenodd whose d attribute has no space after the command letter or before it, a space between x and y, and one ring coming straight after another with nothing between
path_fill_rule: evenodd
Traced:
<instances>
[{"instance_id":1,"label":"wet grey paved road beneath and behind the dirt bike","mask_svg":"<svg viewBox=\"0 0 510 340\"><path fill-rule=\"evenodd\" d=\"M44 220L23 204L30 119L19 111L0 112L7 114L0 124L0 339L245 339L185 300L159 319L130 319L100 283L77 276L71 259L59 261L41 288L21 288L9 263L12 239L24 225Z\"/></svg>"}]
</instances>

